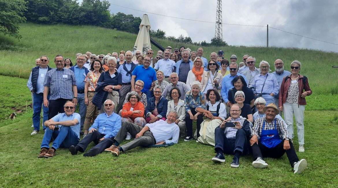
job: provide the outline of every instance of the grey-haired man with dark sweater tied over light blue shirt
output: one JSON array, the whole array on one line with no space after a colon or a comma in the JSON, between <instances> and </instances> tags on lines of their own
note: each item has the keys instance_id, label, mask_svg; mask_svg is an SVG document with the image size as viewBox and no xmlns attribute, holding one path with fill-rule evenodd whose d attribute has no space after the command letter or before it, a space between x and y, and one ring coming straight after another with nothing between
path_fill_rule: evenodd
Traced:
<instances>
[{"instance_id":1,"label":"grey-haired man with dark sweater tied over light blue shirt","mask_svg":"<svg viewBox=\"0 0 338 188\"><path fill-rule=\"evenodd\" d=\"M117 108L117 112L122 110L122 103L124 98L126 97L127 93L131 91L131 74L134 71L136 64L131 62L132 52L126 51L125 59L126 61L117 69L117 72L122 74L122 86L119 91L120 99L119 99L119 106Z\"/></svg>"}]
</instances>

